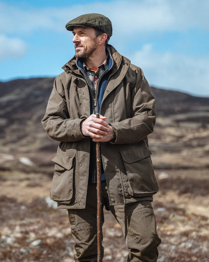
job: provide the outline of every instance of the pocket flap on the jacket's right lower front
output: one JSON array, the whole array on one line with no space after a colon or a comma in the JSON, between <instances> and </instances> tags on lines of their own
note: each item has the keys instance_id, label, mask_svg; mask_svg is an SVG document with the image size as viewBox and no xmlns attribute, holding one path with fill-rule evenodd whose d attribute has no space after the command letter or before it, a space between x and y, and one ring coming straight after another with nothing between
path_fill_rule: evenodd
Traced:
<instances>
[{"instance_id":1,"label":"pocket flap on the jacket's right lower front","mask_svg":"<svg viewBox=\"0 0 209 262\"><path fill-rule=\"evenodd\" d=\"M151 152L147 148L131 148L126 150L120 150L123 161L131 164L141 159L144 159L151 155Z\"/></svg>"}]
</instances>

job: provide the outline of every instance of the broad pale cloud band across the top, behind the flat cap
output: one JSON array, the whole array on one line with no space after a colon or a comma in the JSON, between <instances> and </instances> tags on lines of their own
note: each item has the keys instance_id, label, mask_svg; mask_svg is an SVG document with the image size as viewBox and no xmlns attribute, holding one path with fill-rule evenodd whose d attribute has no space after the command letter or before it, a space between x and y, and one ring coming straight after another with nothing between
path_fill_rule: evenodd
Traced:
<instances>
[{"instance_id":1,"label":"broad pale cloud band across the top, behind the flat cap","mask_svg":"<svg viewBox=\"0 0 209 262\"><path fill-rule=\"evenodd\" d=\"M114 25L114 32L147 32L209 28L209 1L112 1L72 5L66 8L30 8L0 2L0 30L26 33L40 28L64 31L69 19L84 13L102 13ZM110 8L111 6L111 8Z\"/></svg>"}]
</instances>

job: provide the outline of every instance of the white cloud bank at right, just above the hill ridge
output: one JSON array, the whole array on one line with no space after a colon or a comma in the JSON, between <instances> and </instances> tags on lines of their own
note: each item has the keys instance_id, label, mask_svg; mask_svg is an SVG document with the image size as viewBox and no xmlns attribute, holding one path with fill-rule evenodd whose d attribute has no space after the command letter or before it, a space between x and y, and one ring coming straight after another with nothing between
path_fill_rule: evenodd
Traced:
<instances>
[{"instance_id":1,"label":"white cloud bank at right, just above the hill ridge","mask_svg":"<svg viewBox=\"0 0 209 262\"><path fill-rule=\"evenodd\" d=\"M150 44L132 56L150 84L208 96L209 57L159 53Z\"/></svg>"}]
</instances>

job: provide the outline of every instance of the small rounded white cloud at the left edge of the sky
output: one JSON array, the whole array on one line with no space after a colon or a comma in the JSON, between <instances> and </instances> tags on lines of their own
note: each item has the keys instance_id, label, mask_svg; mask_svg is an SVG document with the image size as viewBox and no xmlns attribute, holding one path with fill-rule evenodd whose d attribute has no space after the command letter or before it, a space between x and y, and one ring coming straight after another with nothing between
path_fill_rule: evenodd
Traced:
<instances>
[{"instance_id":1,"label":"small rounded white cloud at the left edge of the sky","mask_svg":"<svg viewBox=\"0 0 209 262\"><path fill-rule=\"evenodd\" d=\"M0 60L19 58L26 53L26 44L19 38L8 38L0 35Z\"/></svg>"}]
</instances>

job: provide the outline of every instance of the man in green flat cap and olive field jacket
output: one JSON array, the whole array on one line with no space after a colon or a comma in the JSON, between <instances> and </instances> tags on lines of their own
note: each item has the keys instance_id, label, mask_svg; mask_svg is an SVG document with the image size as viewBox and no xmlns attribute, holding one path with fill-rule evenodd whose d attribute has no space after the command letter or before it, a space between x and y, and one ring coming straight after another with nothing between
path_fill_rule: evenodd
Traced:
<instances>
[{"instance_id":1,"label":"man in green flat cap and olive field jacket","mask_svg":"<svg viewBox=\"0 0 209 262\"><path fill-rule=\"evenodd\" d=\"M151 202L158 186L147 140L155 123L150 87L142 70L108 44L107 17L85 14L66 29L74 35L75 56L54 81L42 124L60 141L50 197L68 210L74 259L97 257L95 142L100 142L102 208L122 227L128 261L157 261L160 238Z\"/></svg>"}]
</instances>

